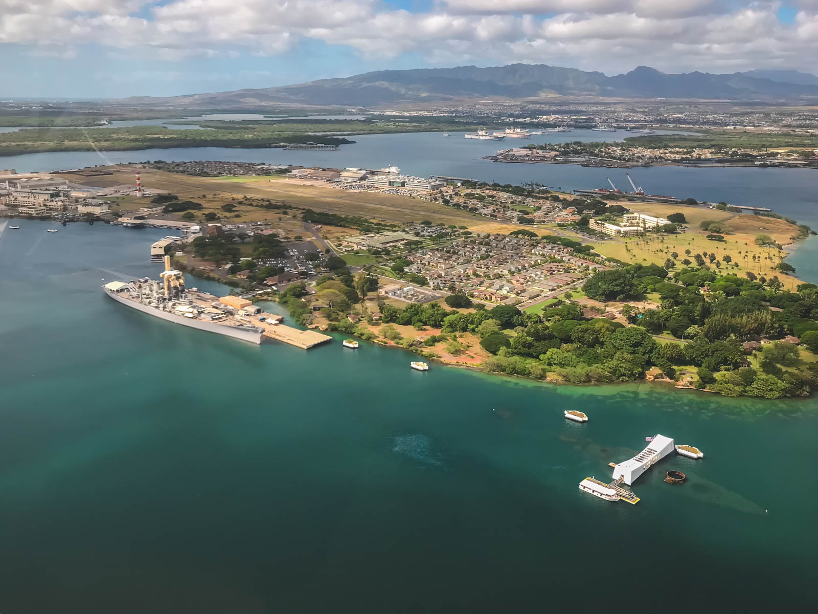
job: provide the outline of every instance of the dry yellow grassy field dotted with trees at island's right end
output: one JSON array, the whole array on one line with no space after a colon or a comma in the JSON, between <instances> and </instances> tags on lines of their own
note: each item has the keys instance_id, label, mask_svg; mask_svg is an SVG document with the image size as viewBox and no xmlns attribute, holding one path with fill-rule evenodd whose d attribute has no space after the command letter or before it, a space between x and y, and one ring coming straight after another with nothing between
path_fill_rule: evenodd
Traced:
<instances>
[{"instance_id":1,"label":"dry yellow grassy field dotted with trees at island's right end","mask_svg":"<svg viewBox=\"0 0 818 614\"><path fill-rule=\"evenodd\" d=\"M736 232L725 235L724 242L710 241L705 238L707 233L691 228L689 232L678 235L627 237L618 242L598 243L595 244L594 249L602 255L631 264L655 263L660 265L663 265L668 258L672 258L672 252L675 251L679 256L676 258L676 267L679 268L684 266L681 260L685 258L694 262L693 255L697 253L713 253L716 259L721 261L721 268L718 270L722 273L737 273L744 276L746 271L752 271L766 278L777 275L787 288L798 283L796 278L775 270L775 265L779 264L786 255L784 251L759 247L753 242L758 234L763 233L769 234L781 244L789 243L789 237L796 231L792 224L783 219L762 218L757 215L739 214L732 217L730 214L727 215L730 219L727 219L726 223ZM688 220L690 221L690 218ZM686 250L690 250L690 255L685 254ZM724 261L726 255L730 256L730 264ZM753 255L757 256L755 262L753 262ZM758 260L759 257L760 260ZM711 266L716 269L715 264Z\"/></svg>"}]
</instances>

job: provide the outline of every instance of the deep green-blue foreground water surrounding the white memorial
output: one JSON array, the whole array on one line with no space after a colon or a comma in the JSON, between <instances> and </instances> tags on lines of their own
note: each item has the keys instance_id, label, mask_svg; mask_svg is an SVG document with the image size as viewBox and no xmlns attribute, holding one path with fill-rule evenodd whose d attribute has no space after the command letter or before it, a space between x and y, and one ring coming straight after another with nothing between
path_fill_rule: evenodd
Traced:
<instances>
[{"instance_id":1,"label":"deep green-blue foreground water surrounding the white memorial","mask_svg":"<svg viewBox=\"0 0 818 614\"><path fill-rule=\"evenodd\" d=\"M816 400L420 373L339 339L247 345L102 294L158 273L164 231L20 226L0 234L3 612L811 601ZM656 433L707 456L663 460L636 506L578 491ZM664 484L671 468L689 481Z\"/></svg>"}]
</instances>

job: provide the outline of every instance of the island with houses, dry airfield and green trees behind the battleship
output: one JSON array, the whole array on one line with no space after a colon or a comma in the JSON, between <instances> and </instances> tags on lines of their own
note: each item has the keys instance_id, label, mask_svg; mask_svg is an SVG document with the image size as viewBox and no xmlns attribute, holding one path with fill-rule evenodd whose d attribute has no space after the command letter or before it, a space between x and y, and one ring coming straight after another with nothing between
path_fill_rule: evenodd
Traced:
<instances>
[{"instance_id":1,"label":"island with houses, dry airfield and green trees behind the battleship","mask_svg":"<svg viewBox=\"0 0 818 614\"><path fill-rule=\"evenodd\" d=\"M119 196L134 170L61 177L110 186L114 216L133 216L150 209ZM485 183L357 191L284 170L142 165L148 222L199 228L168 247L174 266L296 323L490 372L764 398L816 386L818 287L784 260L811 231L793 219Z\"/></svg>"}]
</instances>

